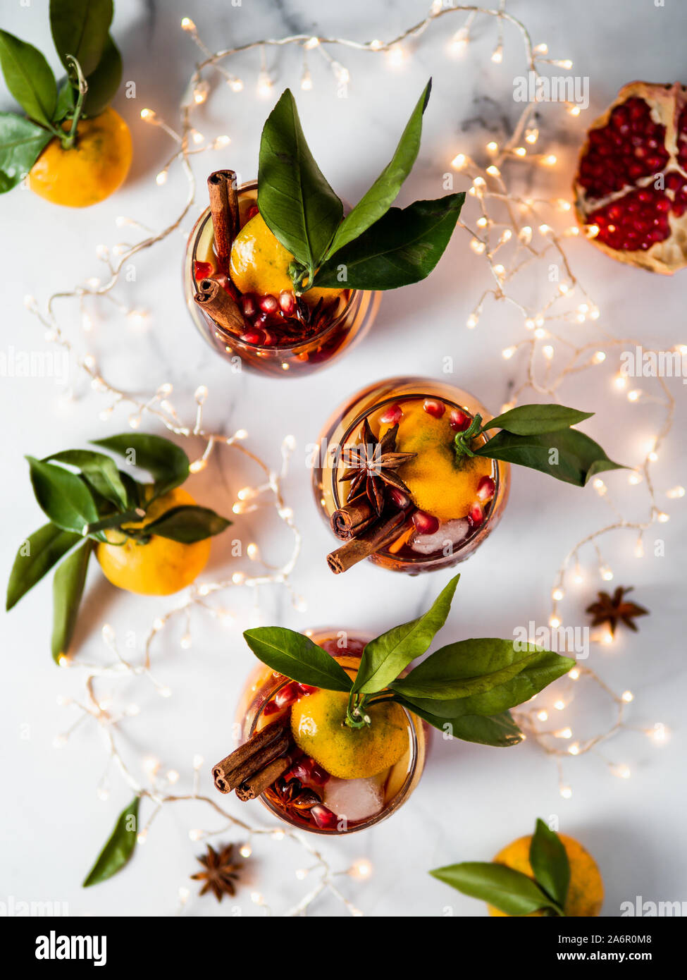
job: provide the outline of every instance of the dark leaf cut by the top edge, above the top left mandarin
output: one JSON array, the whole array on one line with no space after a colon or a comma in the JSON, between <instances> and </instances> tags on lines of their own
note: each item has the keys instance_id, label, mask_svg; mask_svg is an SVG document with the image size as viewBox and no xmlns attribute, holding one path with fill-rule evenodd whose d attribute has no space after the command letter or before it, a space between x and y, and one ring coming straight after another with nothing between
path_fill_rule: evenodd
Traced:
<instances>
[{"instance_id":1,"label":"dark leaf cut by the top edge, above the top left mandarin","mask_svg":"<svg viewBox=\"0 0 687 980\"><path fill-rule=\"evenodd\" d=\"M50 29L62 64L72 55L86 77L100 64L114 12L113 0L50 0Z\"/></svg>"}]
</instances>

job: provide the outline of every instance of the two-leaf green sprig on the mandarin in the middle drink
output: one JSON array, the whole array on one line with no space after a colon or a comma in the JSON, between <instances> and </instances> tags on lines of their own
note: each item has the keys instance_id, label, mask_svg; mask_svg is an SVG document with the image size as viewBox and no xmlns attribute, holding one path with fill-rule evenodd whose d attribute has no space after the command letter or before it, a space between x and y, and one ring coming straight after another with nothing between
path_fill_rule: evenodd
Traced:
<instances>
[{"instance_id":1,"label":"two-leaf green sprig on the mandarin in the middle drink","mask_svg":"<svg viewBox=\"0 0 687 980\"><path fill-rule=\"evenodd\" d=\"M456 459L460 463L466 456L483 456L529 466L564 483L585 486L597 473L625 468L613 463L588 435L571 428L593 415L564 405L520 405L484 425L482 417L475 415L454 439ZM474 449L473 440L495 428L501 431Z\"/></svg>"}]
</instances>

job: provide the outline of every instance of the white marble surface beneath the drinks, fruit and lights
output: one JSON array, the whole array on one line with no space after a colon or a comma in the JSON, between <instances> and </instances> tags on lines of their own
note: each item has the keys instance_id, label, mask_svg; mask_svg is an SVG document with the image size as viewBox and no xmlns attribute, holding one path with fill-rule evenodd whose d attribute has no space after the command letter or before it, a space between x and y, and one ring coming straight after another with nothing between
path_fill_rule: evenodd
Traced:
<instances>
[{"instance_id":1,"label":"white marble surface beneath the drinks, fruit and lights","mask_svg":"<svg viewBox=\"0 0 687 980\"><path fill-rule=\"evenodd\" d=\"M0 205L3 234L0 255L4 293L5 350L41 351L42 331L23 307L25 293L39 301L53 291L72 288L88 276L102 274L95 257L99 243L113 244L124 232L118 215L130 215L163 227L181 206L185 187L173 171L163 188L155 183L172 146L159 130L140 123L140 109L149 105L174 120L174 107L189 75L196 50L178 29L182 15L193 16L202 36L213 46L281 36L293 31L324 32L369 39L386 38L423 16L425 4L316 4L313 0L257 3L244 0L233 7L219 0L186 3L170 0L119 0L115 35L124 52L124 78L136 82L137 98L120 95L116 106L130 123L134 164L123 190L113 199L83 212L58 210L21 190ZM48 47L47 0L25 7L4 4L2 25L34 43ZM520 0L513 13L530 28L535 42L546 40L554 56L574 60L576 71L590 77L591 120L613 98L620 84L633 77L672 81L684 68L683 38L687 11L677 4L656 8L641 0L599 4L591 0L550 5ZM448 22L448 23L447 23ZM512 78L522 73L521 46L514 29L506 34L504 64L489 60L496 40L493 24L483 24L478 40L456 61L446 54L447 41L461 24L459 16L434 25L418 42L412 59L399 71L381 57L343 52L338 57L351 72L347 99L336 99L331 74L317 52L310 56L315 88L300 93L300 59L294 50L268 53L274 94L289 84L298 91L305 129L316 158L339 193L357 200L386 163L397 133L428 74L434 91L425 115L422 149L416 172L403 200L439 196L441 175L461 150L479 149L499 138L503 123L513 123ZM259 69L255 52L239 59L236 71L246 91L232 94L221 85L198 116L205 135L227 132L228 151L198 158L201 182L215 167L231 166L245 176L256 170L260 128L270 101L255 96ZM686 79L682 79L686 80ZM0 107L8 108L0 91ZM541 183L533 192L567 194L575 148L583 129L560 111L542 120L544 143L558 153L554 172L538 171ZM551 121L551 122L547 122ZM489 135L487 135L489 133ZM362 148L362 150L361 150ZM183 230L190 227L190 217ZM474 391L495 411L507 398L511 381L522 366L508 365L501 350L520 337L519 320L503 308L489 308L478 329L467 331L466 317L488 285L486 267L467 250L466 234L455 235L429 282L387 295L367 340L335 366L295 382L232 374L195 336L183 307L179 269L183 249L175 233L154 253L136 260L137 281L123 285L123 300L151 311L146 330L123 319L97 319L89 337L80 332L74 312L65 307L64 322L79 347L97 355L104 373L132 390L148 391L164 381L175 388L176 405L190 412L192 392L199 383L210 388L208 422L231 431L244 426L249 445L272 463L278 459L282 436L298 440L286 494L305 532L302 557L293 584L308 600L309 611L296 613L278 588L265 588L259 600L263 621L305 628L322 623L343 624L380 632L415 614L448 579L448 573L411 579L371 566L358 567L340 580L324 570L329 537L315 512L305 466L304 447L315 439L320 421L352 390L379 376L417 371L436 375L445 355L456 359L455 379ZM646 344L670 348L685 341L684 283L687 272L672 279L622 268L600 256L585 242L570 254L574 268L603 313L600 325L613 335L638 337ZM548 292L547 283L532 285L532 302ZM393 341L393 343L392 343ZM77 385L71 372L70 381ZM580 376L564 389L568 404L597 410L589 426L613 458L640 462L646 439L656 430L660 410L651 404L628 406L611 393L611 370ZM73 405L60 405L61 389L39 378L3 377L0 385L5 435L3 563L9 570L21 537L40 523L28 488L25 453L36 456L89 438L126 428L126 414L101 421L102 396L88 392ZM668 438L655 477L659 491L687 483L681 426L687 420L683 391L678 398L676 426ZM192 404L192 403L191 403ZM230 454L221 466L193 479L192 489L203 501L227 511L236 490L255 471L238 466ZM629 489L626 476L608 479L628 514L643 517L646 498L641 488ZM607 885L605 914L618 913L619 903L636 895L647 899L684 900L684 849L676 850L683 828L683 736L679 730L685 694L684 666L684 502L662 506L671 520L653 529L647 557L633 557L634 540L616 533L603 543L604 557L615 570L615 582L634 584L637 600L651 617L641 632L619 634L609 651L594 648L591 665L618 691L630 688L635 702L628 711L632 725L661 720L672 730L668 743L654 746L638 732L624 732L602 747L602 755L632 770L629 780L614 778L604 761L589 755L565 764L565 780L573 788L565 801L558 793L552 760L534 745L499 751L469 745L437 744L411 802L394 819L373 831L336 842L319 840L337 867L368 858L374 867L367 883L340 879L342 892L372 915L481 915L483 907L433 881L428 868L461 859L490 858L511 838L529 832L537 815L559 814L564 832L580 838L598 858ZM255 517L255 515L253 515ZM611 512L591 488L586 492L547 481L534 472L515 474L511 503L503 522L485 546L466 563L454 612L444 640L492 633L508 636L529 619L546 621L552 580L567 549L585 533L608 522ZM241 519L236 536L255 538L274 561L287 554L289 542L261 525ZM271 536L271 537L270 537ZM653 540L665 541L665 557L653 557ZM570 593L564 613L583 621L584 605L598 586L593 552L583 556L588 583ZM208 576L235 567L226 546L214 546ZM140 645L153 618L172 608L174 600L134 599L105 583L91 569L78 638L83 660L103 656L100 627L107 619L123 642ZM159 699L140 686L124 692L144 709L123 726L124 744L136 772L140 759L155 755L165 768L181 773L178 786L188 788L191 760L200 753L208 763L224 754L237 686L251 666L240 630L250 619L250 597L240 590L225 605L236 611L236 626L225 626L194 614L194 643L180 651L180 631L172 628L157 641L157 673L173 694ZM53 900L69 903L73 914L170 914L179 886L187 884L200 846L188 838L189 828L219 826L196 805L166 809L156 821L148 843L122 874L83 891L79 883L108 836L115 815L129 798L117 771L110 772L107 802L96 796L105 767L101 734L93 723L79 727L69 744L54 751L52 740L73 720L70 710L56 705L58 694L78 693L78 672L60 672L50 661L50 588L37 587L4 619L2 726L2 857L0 901ZM118 695L119 697L119 695ZM547 700L547 699L545 699ZM553 701L549 697L548 701ZM604 725L610 710L595 698L564 712L580 730ZM202 787L212 794L208 765ZM246 810L229 806L237 815ZM263 819L258 805L250 819ZM221 840L240 840L227 833ZM254 846L252 882L235 905L244 914L259 913L250 890L263 892L274 913L296 903L310 881L299 881L294 869L307 866L297 847L265 839ZM314 914L340 915L344 909L331 896L322 897ZM186 914L226 914L209 899L189 901Z\"/></svg>"}]
</instances>

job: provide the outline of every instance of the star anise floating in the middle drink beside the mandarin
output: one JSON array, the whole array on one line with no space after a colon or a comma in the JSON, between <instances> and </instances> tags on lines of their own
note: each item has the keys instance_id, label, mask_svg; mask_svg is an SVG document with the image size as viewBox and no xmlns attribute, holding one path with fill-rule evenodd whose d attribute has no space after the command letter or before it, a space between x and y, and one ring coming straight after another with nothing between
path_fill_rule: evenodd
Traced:
<instances>
[{"instance_id":1,"label":"star anise floating in the middle drink beside the mandarin","mask_svg":"<svg viewBox=\"0 0 687 980\"><path fill-rule=\"evenodd\" d=\"M395 470L412 460L417 453L396 452L397 432L398 422L387 429L381 439L377 439L372 434L368 419L365 419L363 442L345 450L345 460L350 466L339 477L342 482L351 481L347 502L365 494L375 513L381 514L384 508L385 484L410 496L410 490Z\"/></svg>"}]
</instances>

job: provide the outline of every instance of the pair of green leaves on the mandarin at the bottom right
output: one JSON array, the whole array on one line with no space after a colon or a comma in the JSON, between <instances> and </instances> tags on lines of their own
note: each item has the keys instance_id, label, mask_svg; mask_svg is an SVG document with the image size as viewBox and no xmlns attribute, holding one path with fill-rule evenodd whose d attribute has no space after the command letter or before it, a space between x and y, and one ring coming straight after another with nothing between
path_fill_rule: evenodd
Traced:
<instances>
[{"instance_id":1,"label":"pair of green leaves on the mandarin at the bottom right","mask_svg":"<svg viewBox=\"0 0 687 980\"><path fill-rule=\"evenodd\" d=\"M570 862L556 831L537 820L529 845L531 878L495 861L464 861L429 873L472 899L482 899L508 915L544 910L564 916L570 884Z\"/></svg>"}]
</instances>

